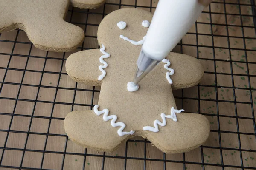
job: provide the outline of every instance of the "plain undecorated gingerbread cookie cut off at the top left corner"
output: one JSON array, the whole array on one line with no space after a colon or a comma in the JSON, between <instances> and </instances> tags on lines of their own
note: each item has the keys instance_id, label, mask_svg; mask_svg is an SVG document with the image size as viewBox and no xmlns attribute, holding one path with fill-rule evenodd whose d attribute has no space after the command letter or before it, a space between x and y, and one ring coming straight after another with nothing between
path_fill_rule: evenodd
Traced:
<instances>
[{"instance_id":1,"label":"plain undecorated gingerbread cookie cut off at the top left corner","mask_svg":"<svg viewBox=\"0 0 256 170\"><path fill-rule=\"evenodd\" d=\"M0 0L0 33L24 30L36 48L72 51L84 40L84 31L64 21L69 0Z\"/></svg>"}]
</instances>

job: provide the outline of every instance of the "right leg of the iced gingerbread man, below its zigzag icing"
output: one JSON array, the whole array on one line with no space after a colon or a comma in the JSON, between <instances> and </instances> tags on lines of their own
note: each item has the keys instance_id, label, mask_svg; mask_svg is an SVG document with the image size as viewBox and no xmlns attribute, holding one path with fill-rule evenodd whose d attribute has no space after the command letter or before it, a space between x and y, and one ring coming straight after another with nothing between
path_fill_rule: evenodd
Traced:
<instances>
[{"instance_id":1,"label":"right leg of the iced gingerbread man, below its zigzag icing","mask_svg":"<svg viewBox=\"0 0 256 170\"><path fill-rule=\"evenodd\" d=\"M177 114L177 122L166 118L166 126L158 125L159 131L143 131L142 135L165 153L188 152L201 146L208 138L208 119L200 114ZM159 116L161 122L162 119ZM150 126L153 126L151 123Z\"/></svg>"}]
</instances>

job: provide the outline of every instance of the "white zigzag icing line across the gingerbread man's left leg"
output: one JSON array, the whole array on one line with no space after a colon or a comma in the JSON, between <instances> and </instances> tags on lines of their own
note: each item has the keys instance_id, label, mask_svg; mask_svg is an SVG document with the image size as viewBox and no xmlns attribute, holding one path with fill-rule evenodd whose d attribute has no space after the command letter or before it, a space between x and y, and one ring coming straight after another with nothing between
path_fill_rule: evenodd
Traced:
<instances>
[{"instance_id":1,"label":"white zigzag icing line across the gingerbread man's left leg","mask_svg":"<svg viewBox=\"0 0 256 170\"><path fill-rule=\"evenodd\" d=\"M101 115L101 114L104 113L104 114L103 114L103 120L104 120L105 122L108 121L108 120L110 120L110 119L112 119L112 120L111 120L111 125L112 125L112 127L121 126L121 127L117 130L117 133L118 133L119 136L132 135L132 134L134 134L134 131L133 131L133 130L131 130L130 132L123 132L123 130L124 130L124 128L125 128L126 125L125 125L123 122L116 122L116 119L117 119L117 116L116 116L116 115L110 115L110 116L108 116L108 113L109 113L108 109L103 109L102 111L99 111L98 108L99 108L99 105L95 105L94 108L93 108L93 111L94 111L94 113L95 113L97 116L99 116L99 115Z\"/></svg>"}]
</instances>

